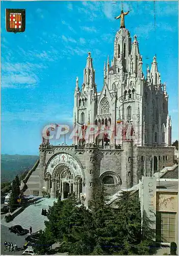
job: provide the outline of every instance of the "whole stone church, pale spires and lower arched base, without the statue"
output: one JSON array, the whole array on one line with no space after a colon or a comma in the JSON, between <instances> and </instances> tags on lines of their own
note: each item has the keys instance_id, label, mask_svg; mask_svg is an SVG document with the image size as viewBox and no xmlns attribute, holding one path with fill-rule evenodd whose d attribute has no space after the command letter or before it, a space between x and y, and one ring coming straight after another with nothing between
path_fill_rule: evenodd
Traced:
<instances>
[{"instance_id":1,"label":"whole stone church, pale spires and lower arched base, without the statue","mask_svg":"<svg viewBox=\"0 0 179 256\"><path fill-rule=\"evenodd\" d=\"M95 70L88 53L82 90L76 78L74 125L112 127L118 137L74 137L71 146L40 145L40 161L24 194L46 190L52 198L69 193L89 205L93 179L100 179L110 195L131 188L142 176L152 177L174 162L171 145L171 118L168 115L166 84L161 83L156 56L147 77L142 72L142 56L137 37L122 28L114 41L113 60L104 67L104 87L97 92ZM35 191L35 192L34 192Z\"/></svg>"}]
</instances>

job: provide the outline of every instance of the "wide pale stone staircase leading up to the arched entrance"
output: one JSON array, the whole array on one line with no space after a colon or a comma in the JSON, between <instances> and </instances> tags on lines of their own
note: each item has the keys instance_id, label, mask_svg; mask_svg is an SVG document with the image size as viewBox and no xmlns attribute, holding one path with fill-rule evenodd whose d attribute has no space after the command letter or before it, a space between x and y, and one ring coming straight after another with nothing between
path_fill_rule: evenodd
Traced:
<instances>
[{"instance_id":1,"label":"wide pale stone staircase leading up to the arched entrance","mask_svg":"<svg viewBox=\"0 0 179 256\"><path fill-rule=\"evenodd\" d=\"M25 229L29 229L30 226L32 226L33 233L40 229L43 230L45 228L44 221L47 220L47 217L41 215L42 208L48 210L49 206L53 206L54 202L57 202L57 199L38 199L36 204L29 205L21 212L21 214L15 217L13 221L6 223L3 219L1 223L8 227L20 225Z\"/></svg>"}]
</instances>

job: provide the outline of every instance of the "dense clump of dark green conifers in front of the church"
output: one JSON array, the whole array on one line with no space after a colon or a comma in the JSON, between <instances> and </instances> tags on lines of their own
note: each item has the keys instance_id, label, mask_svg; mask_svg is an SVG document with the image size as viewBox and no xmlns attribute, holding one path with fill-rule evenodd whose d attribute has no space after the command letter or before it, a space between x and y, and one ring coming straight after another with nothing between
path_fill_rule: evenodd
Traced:
<instances>
[{"instance_id":1,"label":"dense clump of dark green conifers in front of the church","mask_svg":"<svg viewBox=\"0 0 179 256\"><path fill-rule=\"evenodd\" d=\"M49 208L45 230L41 232L41 254L49 250L47 244L61 244L59 252L68 254L148 254L153 234L144 217L141 232L141 212L138 195L122 192L112 208L103 184L93 181L90 209L78 207L71 195L58 199Z\"/></svg>"}]
</instances>

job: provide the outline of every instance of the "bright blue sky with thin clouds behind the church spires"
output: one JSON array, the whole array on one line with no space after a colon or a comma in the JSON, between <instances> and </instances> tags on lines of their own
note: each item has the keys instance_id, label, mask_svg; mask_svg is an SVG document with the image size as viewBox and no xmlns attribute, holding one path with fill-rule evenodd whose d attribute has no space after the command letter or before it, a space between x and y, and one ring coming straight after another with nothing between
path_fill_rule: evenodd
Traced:
<instances>
[{"instance_id":1,"label":"bright blue sky with thin clouds behind the church spires","mask_svg":"<svg viewBox=\"0 0 179 256\"><path fill-rule=\"evenodd\" d=\"M5 9L26 9L23 33L5 29ZM104 61L113 57L121 2L1 2L2 154L38 154L48 123L72 121L76 76L83 82L88 51L98 91ZM143 71L157 54L167 82L172 141L178 139L177 2L124 2L125 26L138 36ZM155 22L156 20L156 26ZM156 28L156 29L155 29ZM58 142L59 143L59 142Z\"/></svg>"}]
</instances>

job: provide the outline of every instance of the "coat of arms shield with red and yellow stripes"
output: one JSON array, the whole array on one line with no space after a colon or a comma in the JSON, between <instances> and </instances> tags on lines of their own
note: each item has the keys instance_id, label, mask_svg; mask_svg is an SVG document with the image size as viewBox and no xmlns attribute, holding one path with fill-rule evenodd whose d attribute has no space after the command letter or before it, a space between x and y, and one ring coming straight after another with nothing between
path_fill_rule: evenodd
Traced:
<instances>
[{"instance_id":1,"label":"coat of arms shield with red and yellow stripes","mask_svg":"<svg viewBox=\"0 0 179 256\"><path fill-rule=\"evenodd\" d=\"M25 9L6 9L7 32L25 31Z\"/></svg>"}]
</instances>

